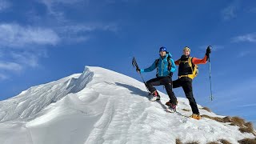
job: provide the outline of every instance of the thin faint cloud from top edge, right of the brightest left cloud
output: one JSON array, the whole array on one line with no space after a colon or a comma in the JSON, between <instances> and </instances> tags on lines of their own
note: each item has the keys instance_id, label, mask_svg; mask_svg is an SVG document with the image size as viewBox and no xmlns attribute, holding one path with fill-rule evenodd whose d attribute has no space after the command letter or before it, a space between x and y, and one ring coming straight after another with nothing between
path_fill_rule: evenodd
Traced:
<instances>
[{"instance_id":1,"label":"thin faint cloud from top edge, right of the brightest left cloud","mask_svg":"<svg viewBox=\"0 0 256 144\"><path fill-rule=\"evenodd\" d=\"M58 32L63 42L86 42L91 38L91 33L94 31L110 31L116 33L118 25L114 22L82 22L74 23L66 18L65 7L74 7L78 4L88 3L89 0L38 0L46 6L47 13L55 23L54 30Z\"/></svg>"}]
</instances>

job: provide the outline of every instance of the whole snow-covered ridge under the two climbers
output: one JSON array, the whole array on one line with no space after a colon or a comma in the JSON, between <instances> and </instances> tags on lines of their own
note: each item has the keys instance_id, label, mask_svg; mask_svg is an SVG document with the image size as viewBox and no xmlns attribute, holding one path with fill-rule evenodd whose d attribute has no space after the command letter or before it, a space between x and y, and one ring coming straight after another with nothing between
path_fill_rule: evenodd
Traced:
<instances>
[{"instance_id":1,"label":"whole snow-covered ridge under the two climbers","mask_svg":"<svg viewBox=\"0 0 256 144\"><path fill-rule=\"evenodd\" d=\"M191 111L187 111L190 106L186 98L178 98L180 114L166 113L169 98L159 94L160 102L150 102L142 82L86 66L82 74L33 86L0 102L0 143L245 143L245 138L256 141L252 134L255 130L246 129L250 123L239 118L220 116L202 106L198 106L202 120L187 118ZM240 127L244 129L239 130Z\"/></svg>"}]
</instances>

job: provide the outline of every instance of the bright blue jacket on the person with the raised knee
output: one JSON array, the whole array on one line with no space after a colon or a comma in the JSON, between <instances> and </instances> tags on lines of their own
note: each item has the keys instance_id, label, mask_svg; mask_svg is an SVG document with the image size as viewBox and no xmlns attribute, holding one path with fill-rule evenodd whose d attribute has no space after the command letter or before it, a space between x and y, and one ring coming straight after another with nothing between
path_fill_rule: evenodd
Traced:
<instances>
[{"instance_id":1,"label":"bright blue jacket on the person with the raised knee","mask_svg":"<svg viewBox=\"0 0 256 144\"><path fill-rule=\"evenodd\" d=\"M168 62L167 62L168 55L170 55L170 63L171 63L170 70L168 70ZM158 66L156 66L155 62L157 62L157 61L155 60L154 63L149 68L141 69L141 73L150 72L150 71L153 71L155 68L158 68L157 76L158 77L166 77L171 72L173 73L176 70L174 60L171 58L170 53L166 54L165 58L161 58L161 56L160 56L160 58L158 60Z\"/></svg>"}]
</instances>

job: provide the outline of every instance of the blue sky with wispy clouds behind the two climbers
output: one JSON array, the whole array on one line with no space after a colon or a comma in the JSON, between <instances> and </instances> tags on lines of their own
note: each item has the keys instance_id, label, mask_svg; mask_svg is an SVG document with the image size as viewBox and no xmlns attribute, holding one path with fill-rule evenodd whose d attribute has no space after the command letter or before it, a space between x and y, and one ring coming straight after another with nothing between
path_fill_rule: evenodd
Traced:
<instances>
[{"instance_id":1,"label":"blue sky with wispy clouds behind the two climbers","mask_svg":"<svg viewBox=\"0 0 256 144\"><path fill-rule=\"evenodd\" d=\"M160 46L176 60L184 46L203 58L211 45L214 101L207 64L194 79L197 102L217 114L256 122L255 26L252 0L0 0L0 100L81 73L84 66L141 81L131 66L133 56L146 68ZM148 80L155 72L143 76ZM185 97L181 88L174 92Z\"/></svg>"}]
</instances>

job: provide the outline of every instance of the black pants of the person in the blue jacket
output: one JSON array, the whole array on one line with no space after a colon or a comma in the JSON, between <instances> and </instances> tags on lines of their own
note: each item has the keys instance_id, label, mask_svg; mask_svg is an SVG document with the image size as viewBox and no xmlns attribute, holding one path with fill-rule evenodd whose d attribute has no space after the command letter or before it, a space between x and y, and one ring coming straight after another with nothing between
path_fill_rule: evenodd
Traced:
<instances>
[{"instance_id":1,"label":"black pants of the person in the blue jacket","mask_svg":"<svg viewBox=\"0 0 256 144\"><path fill-rule=\"evenodd\" d=\"M176 105L177 98L175 97L175 94L173 91L172 78L170 76L153 78L146 82L146 86L151 93L153 93L156 90L154 86L160 86L160 85L163 85L166 87L166 92L170 98L170 103Z\"/></svg>"}]
</instances>

